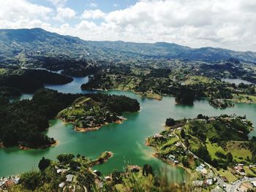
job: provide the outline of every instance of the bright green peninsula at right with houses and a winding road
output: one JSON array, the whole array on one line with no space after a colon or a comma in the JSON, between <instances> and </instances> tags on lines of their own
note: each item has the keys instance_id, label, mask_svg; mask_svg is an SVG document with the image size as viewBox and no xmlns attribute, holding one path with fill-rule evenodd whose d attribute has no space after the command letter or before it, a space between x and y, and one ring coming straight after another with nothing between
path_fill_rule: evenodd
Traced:
<instances>
[{"instance_id":1,"label":"bright green peninsula at right with houses and a winding road","mask_svg":"<svg viewBox=\"0 0 256 192\"><path fill-rule=\"evenodd\" d=\"M198 190L256 177L256 139L248 138L253 126L245 117L168 118L165 126L165 131L146 139L146 145L156 148L157 158L186 169Z\"/></svg>"}]
</instances>

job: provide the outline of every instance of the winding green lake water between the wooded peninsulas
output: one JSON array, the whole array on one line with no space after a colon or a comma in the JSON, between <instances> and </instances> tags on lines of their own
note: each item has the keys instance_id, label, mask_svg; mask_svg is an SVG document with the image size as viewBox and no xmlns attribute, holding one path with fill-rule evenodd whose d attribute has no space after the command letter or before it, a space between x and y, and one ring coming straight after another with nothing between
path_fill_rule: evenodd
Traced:
<instances>
[{"instance_id":1,"label":"winding green lake water between the wooded peninsulas","mask_svg":"<svg viewBox=\"0 0 256 192\"><path fill-rule=\"evenodd\" d=\"M80 85L87 77L75 78L67 85L46 85L63 93L89 93L81 91ZM103 174L109 174L113 169L123 169L127 164L152 164L154 169L166 166L162 161L154 158L154 150L145 146L146 137L164 130L166 118L195 118L199 113L203 115L233 114L246 115L256 123L255 104L236 104L234 108L219 110L211 107L208 101L195 101L194 106L176 106L175 99L165 96L162 101L143 99L139 95L126 91L108 91L105 93L126 95L140 102L141 110L135 113L124 113L128 120L122 124L111 123L98 131L79 133L72 129L72 125L64 124L61 120L50 120L49 137L59 141L59 145L44 150L19 150L11 147L0 150L0 177L4 175L20 174L31 169L37 169L42 156L56 159L59 153L74 153L88 158L97 158L100 153L108 150L113 152L113 158L108 163L95 166ZM251 135L256 135L252 131ZM167 166L176 180L183 180L183 169Z\"/></svg>"}]
</instances>

